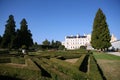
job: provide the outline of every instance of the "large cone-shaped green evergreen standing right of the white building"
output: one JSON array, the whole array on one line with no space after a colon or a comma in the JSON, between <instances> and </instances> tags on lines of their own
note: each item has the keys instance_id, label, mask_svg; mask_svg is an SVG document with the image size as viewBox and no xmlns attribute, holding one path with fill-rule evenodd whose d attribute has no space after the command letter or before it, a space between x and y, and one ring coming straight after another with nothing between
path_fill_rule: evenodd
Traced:
<instances>
[{"instance_id":1,"label":"large cone-shaped green evergreen standing right of the white building","mask_svg":"<svg viewBox=\"0 0 120 80\"><path fill-rule=\"evenodd\" d=\"M98 9L93 23L91 45L95 49L105 50L111 46L111 36L106 22L106 17L101 9Z\"/></svg>"}]
</instances>

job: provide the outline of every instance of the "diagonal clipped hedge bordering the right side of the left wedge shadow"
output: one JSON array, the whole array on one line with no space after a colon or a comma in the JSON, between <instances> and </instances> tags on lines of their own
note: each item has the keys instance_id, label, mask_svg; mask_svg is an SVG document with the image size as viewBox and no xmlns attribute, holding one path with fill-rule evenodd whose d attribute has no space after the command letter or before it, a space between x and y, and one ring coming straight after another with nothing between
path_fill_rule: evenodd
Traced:
<instances>
[{"instance_id":1,"label":"diagonal clipped hedge bordering the right side of the left wedge shadow","mask_svg":"<svg viewBox=\"0 0 120 80\"><path fill-rule=\"evenodd\" d=\"M41 66L44 70L47 70L47 72L49 74L51 74L51 77L53 80L70 80L72 79L70 76L65 75L64 73L56 70L50 61L48 61L47 59L38 59L38 58L34 58L34 60L37 62L37 64L39 66Z\"/></svg>"}]
</instances>

